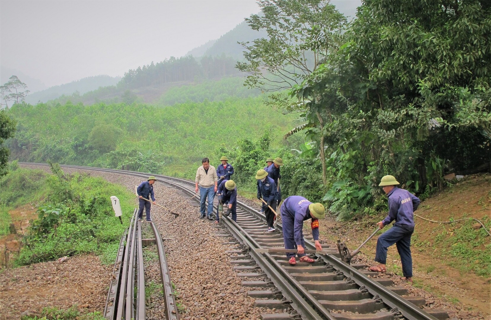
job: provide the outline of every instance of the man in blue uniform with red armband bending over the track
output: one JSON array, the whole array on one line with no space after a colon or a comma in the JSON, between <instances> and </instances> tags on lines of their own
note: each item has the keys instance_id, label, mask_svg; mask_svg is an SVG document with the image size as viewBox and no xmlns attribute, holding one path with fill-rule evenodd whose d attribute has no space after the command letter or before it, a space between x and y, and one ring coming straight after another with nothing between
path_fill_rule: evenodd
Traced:
<instances>
[{"instance_id":1,"label":"man in blue uniform with red armband bending over the track","mask_svg":"<svg viewBox=\"0 0 491 320\"><path fill-rule=\"evenodd\" d=\"M324 219L326 210L321 203L312 203L299 195L292 195L285 199L280 208L283 227L283 240L285 249L292 249L286 257L290 265L296 265L295 250L301 262L314 262L314 259L305 255L305 242L303 240L303 221L312 219L310 226L314 237L315 248L322 250L319 242L319 219Z\"/></svg>"}]
</instances>

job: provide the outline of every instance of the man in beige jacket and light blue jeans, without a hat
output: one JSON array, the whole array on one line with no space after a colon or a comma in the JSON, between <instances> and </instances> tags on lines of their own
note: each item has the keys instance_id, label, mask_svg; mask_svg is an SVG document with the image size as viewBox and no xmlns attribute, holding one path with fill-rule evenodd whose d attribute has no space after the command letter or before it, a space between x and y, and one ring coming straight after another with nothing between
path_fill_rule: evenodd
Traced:
<instances>
[{"instance_id":1,"label":"man in beige jacket and light blue jeans, without a hat","mask_svg":"<svg viewBox=\"0 0 491 320\"><path fill-rule=\"evenodd\" d=\"M205 217L205 202L206 197L208 196L208 214L206 215L208 216L208 220L213 220L213 199L215 198L215 193L217 192L218 187L217 170L213 165L210 165L210 160L208 158L203 158L201 163L203 165L196 171L196 179L194 180L196 183L196 193L198 193L199 186L199 209L201 211L200 218Z\"/></svg>"}]
</instances>

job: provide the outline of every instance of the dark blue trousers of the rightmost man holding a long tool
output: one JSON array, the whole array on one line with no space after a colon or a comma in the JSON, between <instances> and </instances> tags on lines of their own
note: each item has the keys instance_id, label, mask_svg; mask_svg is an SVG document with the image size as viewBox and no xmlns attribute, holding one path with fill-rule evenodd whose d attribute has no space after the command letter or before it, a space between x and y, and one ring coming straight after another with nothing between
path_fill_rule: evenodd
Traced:
<instances>
[{"instance_id":1,"label":"dark blue trousers of the rightmost man holding a long tool","mask_svg":"<svg viewBox=\"0 0 491 320\"><path fill-rule=\"evenodd\" d=\"M387 248L392 244L396 244L397 252L401 256L402 273L405 277L412 277L412 258L411 236L414 227L405 225L394 225L389 230L385 231L377 240L377 252L375 261L385 265L387 260Z\"/></svg>"}]
</instances>

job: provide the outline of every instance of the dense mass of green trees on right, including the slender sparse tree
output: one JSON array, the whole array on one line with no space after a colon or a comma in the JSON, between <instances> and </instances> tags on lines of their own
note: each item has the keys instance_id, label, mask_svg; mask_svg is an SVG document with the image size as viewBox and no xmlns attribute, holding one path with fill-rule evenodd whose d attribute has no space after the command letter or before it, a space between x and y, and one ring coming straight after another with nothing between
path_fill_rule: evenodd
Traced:
<instances>
[{"instance_id":1,"label":"dense mass of green trees on right, including the slender sparse tree","mask_svg":"<svg viewBox=\"0 0 491 320\"><path fill-rule=\"evenodd\" d=\"M290 89L273 103L301 114L291 134L314 143L331 212L365 212L385 174L428 195L447 170L489 169L488 2L367 0L351 24L326 0L261 7L247 22L268 38L245 44L237 66L251 87Z\"/></svg>"}]
</instances>

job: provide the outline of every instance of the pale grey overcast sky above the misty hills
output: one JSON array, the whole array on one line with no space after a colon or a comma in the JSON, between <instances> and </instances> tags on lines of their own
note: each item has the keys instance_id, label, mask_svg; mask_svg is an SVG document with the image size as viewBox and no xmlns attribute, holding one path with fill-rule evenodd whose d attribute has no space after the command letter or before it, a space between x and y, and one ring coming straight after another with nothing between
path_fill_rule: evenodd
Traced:
<instances>
[{"instance_id":1,"label":"pale grey overcast sky above the misty hills","mask_svg":"<svg viewBox=\"0 0 491 320\"><path fill-rule=\"evenodd\" d=\"M0 63L47 86L123 76L182 56L259 11L255 0L1 0Z\"/></svg>"}]
</instances>

